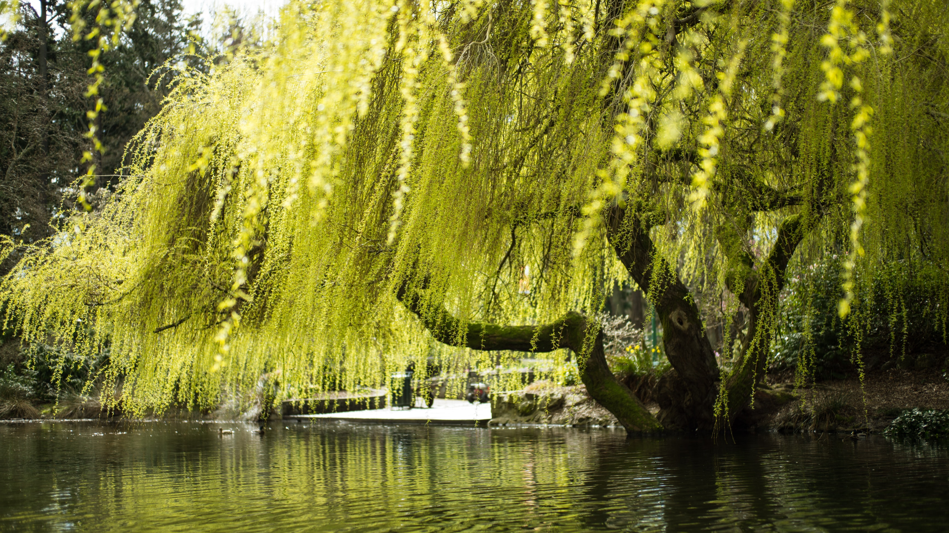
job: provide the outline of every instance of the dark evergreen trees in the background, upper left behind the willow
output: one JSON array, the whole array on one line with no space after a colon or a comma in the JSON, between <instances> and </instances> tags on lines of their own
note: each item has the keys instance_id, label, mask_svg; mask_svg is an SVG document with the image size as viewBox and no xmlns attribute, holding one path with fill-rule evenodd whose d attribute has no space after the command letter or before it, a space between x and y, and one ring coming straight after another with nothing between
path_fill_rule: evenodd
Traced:
<instances>
[{"instance_id":1,"label":"dark evergreen trees in the background, upper left behind the willow","mask_svg":"<svg viewBox=\"0 0 949 533\"><path fill-rule=\"evenodd\" d=\"M39 9L22 4L17 26L0 42L0 232L27 242L51 234L50 218L81 174L79 159L89 145L84 122L92 102L84 93L91 45L73 42L69 13L67 3L56 0L40 2ZM172 83L168 72L156 69L188 49L188 35L200 24L182 18L177 0L141 2L137 15L104 59L102 98L111 112L102 115L101 138L109 150L99 167L105 179L90 193L116 181L106 175L121 174L126 142L158 113ZM68 216L72 198L65 199Z\"/></svg>"}]
</instances>

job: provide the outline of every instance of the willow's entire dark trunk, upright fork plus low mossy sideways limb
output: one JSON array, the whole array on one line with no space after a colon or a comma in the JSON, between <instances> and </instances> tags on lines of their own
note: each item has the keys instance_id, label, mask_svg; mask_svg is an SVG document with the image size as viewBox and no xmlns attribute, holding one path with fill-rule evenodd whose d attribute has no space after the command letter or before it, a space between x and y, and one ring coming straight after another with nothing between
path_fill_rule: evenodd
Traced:
<instances>
[{"instance_id":1,"label":"willow's entire dark trunk, upright fork plus low mossy sideways limb","mask_svg":"<svg viewBox=\"0 0 949 533\"><path fill-rule=\"evenodd\" d=\"M698 306L676 270L657 256L649 237L655 215L642 205L637 208L627 211L614 205L604 213L610 245L633 280L649 295L650 302L655 303L655 312L662 323L662 343L672 369L662 375L656 386L654 397L660 404L656 417L609 370L603 333L598 332L591 338L589 319L580 313L571 311L557 321L538 326L509 326L465 322L451 315L444 306L426 307L419 293L408 283L400 286L397 297L439 342L473 350L551 352L569 348L577 354L585 354L586 358L578 362L582 363L581 378L587 393L614 414L627 432L714 431L723 423L731 425L749 406L765 376L770 336L764 332L757 341L754 339L763 314L776 311L788 263L807 234L805 218L796 214L787 217L778 228L771 253L757 266L750 254L735 252L738 248L731 246L740 243L740 239L730 240L728 232L722 233L721 246L726 254L731 252L730 259L734 259L726 284L750 309L747 336L750 342L743 346L741 363L726 377L724 387L720 387L715 352L702 327ZM768 320L774 320L773 316ZM716 414L720 390L725 393L726 403Z\"/></svg>"}]
</instances>

